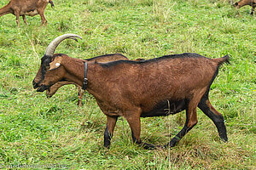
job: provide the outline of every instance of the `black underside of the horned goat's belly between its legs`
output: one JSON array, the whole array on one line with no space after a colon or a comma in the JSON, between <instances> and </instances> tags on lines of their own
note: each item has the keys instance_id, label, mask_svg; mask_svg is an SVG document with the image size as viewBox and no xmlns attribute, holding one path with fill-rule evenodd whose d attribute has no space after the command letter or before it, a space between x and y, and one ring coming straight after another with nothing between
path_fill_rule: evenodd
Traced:
<instances>
[{"instance_id":1,"label":"black underside of the horned goat's belly between its legs","mask_svg":"<svg viewBox=\"0 0 256 170\"><path fill-rule=\"evenodd\" d=\"M184 111L185 109L185 99L175 102L166 100L156 105L152 111L143 112L141 117L174 115L180 111Z\"/></svg>"}]
</instances>

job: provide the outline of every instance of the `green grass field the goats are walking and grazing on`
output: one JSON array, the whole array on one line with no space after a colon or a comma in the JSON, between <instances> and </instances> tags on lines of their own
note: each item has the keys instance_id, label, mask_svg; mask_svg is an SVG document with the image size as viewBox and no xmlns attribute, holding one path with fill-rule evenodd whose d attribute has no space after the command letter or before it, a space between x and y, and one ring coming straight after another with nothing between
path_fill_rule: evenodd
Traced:
<instances>
[{"instance_id":1,"label":"green grass field the goats are walking and grazing on","mask_svg":"<svg viewBox=\"0 0 256 170\"><path fill-rule=\"evenodd\" d=\"M0 7L9 0L2 0ZM255 169L256 22L251 7L238 11L228 0L54 0L40 17L0 18L0 169L46 166L58 169ZM165 150L132 144L119 118L110 150L103 147L106 116L90 94L77 107L77 89L54 97L32 88L40 59L55 37L75 33L83 40L61 42L56 53L87 59L121 53L130 59L198 53L230 55L212 84L212 105L224 115L228 143L198 110L198 124ZM166 144L181 130L185 114L142 118L142 139ZM44 167L45 166L45 167ZM33 168L34 169L34 168Z\"/></svg>"}]
</instances>

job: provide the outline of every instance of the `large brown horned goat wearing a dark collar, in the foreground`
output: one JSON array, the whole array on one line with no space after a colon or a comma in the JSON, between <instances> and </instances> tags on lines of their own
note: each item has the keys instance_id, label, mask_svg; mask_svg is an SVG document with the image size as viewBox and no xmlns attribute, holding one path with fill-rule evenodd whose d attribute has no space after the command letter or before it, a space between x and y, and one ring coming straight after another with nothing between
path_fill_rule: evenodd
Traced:
<instances>
[{"instance_id":1,"label":"large brown horned goat wearing a dark collar, in the foreground","mask_svg":"<svg viewBox=\"0 0 256 170\"><path fill-rule=\"evenodd\" d=\"M105 147L110 145L119 116L124 116L129 123L133 141L145 149L152 149L153 144L143 143L140 139L140 117L168 116L185 110L183 129L166 144L174 146L197 123L197 107L212 119L220 138L228 140L224 117L208 99L218 67L229 61L228 55L208 59L200 54L174 54L143 61L97 63L54 54L61 41L74 37L79 36L67 34L50 42L41 59L41 76L35 77L33 88L44 92L55 82L63 80L79 86L86 84L84 88L96 98L107 116Z\"/></svg>"}]
</instances>

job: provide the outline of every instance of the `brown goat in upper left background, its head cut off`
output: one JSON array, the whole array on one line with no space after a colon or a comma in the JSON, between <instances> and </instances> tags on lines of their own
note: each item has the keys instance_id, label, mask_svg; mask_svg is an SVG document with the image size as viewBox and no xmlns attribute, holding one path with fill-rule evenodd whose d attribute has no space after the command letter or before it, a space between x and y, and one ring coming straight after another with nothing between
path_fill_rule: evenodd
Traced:
<instances>
[{"instance_id":1,"label":"brown goat in upper left background, its head cut off","mask_svg":"<svg viewBox=\"0 0 256 170\"><path fill-rule=\"evenodd\" d=\"M20 26L20 16L22 16L25 24L26 15L34 16L40 14L41 26L47 25L47 20L44 17L44 9L47 4L50 3L51 7L54 7L54 3L51 0L11 0L3 8L0 8L0 16L4 14L14 14L16 16L17 26Z\"/></svg>"}]
</instances>

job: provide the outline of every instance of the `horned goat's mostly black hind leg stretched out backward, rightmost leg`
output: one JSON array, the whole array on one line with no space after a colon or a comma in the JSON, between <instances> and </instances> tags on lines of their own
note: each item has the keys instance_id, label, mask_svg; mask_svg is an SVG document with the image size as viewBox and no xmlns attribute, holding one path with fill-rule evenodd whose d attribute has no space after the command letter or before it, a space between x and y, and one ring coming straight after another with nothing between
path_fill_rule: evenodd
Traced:
<instances>
[{"instance_id":1,"label":"horned goat's mostly black hind leg stretched out backward, rightmost leg","mask_svg":"<svg viewBox=\"0 0 256 170\"><path fill-rule=\"evenodd\" d=\"M198 104L198 107L203 111L210 119L212 119L212 122L214 122L215 126L218 129L218 135L219 137L224 140L228 141L227 137L227 130L224 124L224 117L221 113L215 110L215 108L212 106L208 99L208 93L204 94L204 96L201 98L200 103Z\"/></svg>"}]
</instances>

